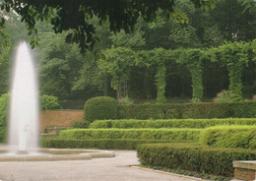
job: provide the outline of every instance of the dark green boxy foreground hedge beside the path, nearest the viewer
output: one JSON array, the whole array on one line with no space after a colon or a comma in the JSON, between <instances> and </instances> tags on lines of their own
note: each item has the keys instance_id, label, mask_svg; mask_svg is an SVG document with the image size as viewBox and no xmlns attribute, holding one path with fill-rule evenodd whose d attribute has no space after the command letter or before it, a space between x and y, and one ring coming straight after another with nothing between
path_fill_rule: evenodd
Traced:
<instances>
[{"instance_id":1,"label":"dark green boxy foreground hedge beside the path, nearest the viewer","mask_svg":"<svg viewBox=\"0 0 256 181\"><path fill-rule=\"evenodd\" d=\"M214 175L233 175L233 160L255 160L256 151L216 149L196 144L143 144L137 155L144 165L180 168Z\"/></svg>"}]
</instances>

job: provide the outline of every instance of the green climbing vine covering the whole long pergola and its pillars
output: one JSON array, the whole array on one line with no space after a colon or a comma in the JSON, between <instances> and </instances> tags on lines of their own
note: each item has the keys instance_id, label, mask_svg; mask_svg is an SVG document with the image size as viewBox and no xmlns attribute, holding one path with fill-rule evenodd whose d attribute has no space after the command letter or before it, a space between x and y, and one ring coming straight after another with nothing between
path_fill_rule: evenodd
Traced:
<instances>
[{"instance_id":1,"label":"green climbing vine covering the whole long pergola and its pillars","mask_svg":"<svg viewBox=\"0 0 256 181\"><path fill-rule=\"evenodd\" d=\"M109 75L111 88L117 91L117 98L128 95L128 81L134 67L154 70L157 86L157 102L166 101L166 60L184 65L191 75L192 101L202 101L204 95L204 65L206 62L223 63L229 76L230 91L242 98L242 73L249 61L256 61L256 40L248 43L226 43L209 49L184 49L134 51L130 48L117 47L107 49L105 58L98 60L98 68ZM169 74L170 75L170 74Z\"/></svg>"}]
</instances>

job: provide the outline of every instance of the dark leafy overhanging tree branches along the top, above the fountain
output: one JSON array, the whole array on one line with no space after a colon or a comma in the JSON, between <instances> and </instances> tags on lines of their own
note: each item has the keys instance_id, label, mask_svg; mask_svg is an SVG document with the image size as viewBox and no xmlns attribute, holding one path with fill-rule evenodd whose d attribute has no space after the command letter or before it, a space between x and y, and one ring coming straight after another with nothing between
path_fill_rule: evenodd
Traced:
<instances>
[{"instance_id":1,"label":"dark leafy overhanging tree branches along the top, above the fountain","mask_svg":"<svg viewBox=\"0 0 256 181\"><path fill-rule=\"evenodd\" d=\"M216 0L191 0L197 7L214 8ZM22 22L25 22L29 34L32 35L32 47L38 43L35 24L38 21L48 21L53 25L55 33L69 31L67 42L79 44L81 52L92 49L96 43L95 27L89 20L94 16L99 23L109 24L111 31L125 30L130 32L140 16L151 22L161 9L165 17L173 13L174 0L143 1L143 0L111 0L111 1L85 1L85 0L3 0L1 9L7 12L15 11ZM76 21L74 21L76 20ZM4 22L4 19L2 19Z\"/></svg>"}]
</instances>

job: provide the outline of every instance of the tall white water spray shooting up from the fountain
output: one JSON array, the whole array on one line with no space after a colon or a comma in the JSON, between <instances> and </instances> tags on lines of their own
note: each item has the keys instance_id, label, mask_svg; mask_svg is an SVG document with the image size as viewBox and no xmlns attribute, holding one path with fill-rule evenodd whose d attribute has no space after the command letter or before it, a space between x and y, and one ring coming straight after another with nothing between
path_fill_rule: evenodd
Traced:
<instances>
[{"instance_id":1,"label":"tall white water spray shooting up from the fountain","mask_svg":"<svg viewBox=\"0 0 256 181\"><path fill-rule=\"evenodd\" d=\"M12 152L37 150L37 76L26 42L19 45L13 69L8 138Z\"/></svg>"}]
</instances>

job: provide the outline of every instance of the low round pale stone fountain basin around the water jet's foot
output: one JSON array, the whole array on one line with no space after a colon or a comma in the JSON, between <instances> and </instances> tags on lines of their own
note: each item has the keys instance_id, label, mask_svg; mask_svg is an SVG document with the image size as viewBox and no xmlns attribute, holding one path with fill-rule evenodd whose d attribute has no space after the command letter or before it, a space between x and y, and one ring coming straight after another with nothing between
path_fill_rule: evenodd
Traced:
<instances>
[{"instance_id":1,"label":"low round pale stone fountain basin around the water jet's foot","mask_svg":"<svg viewBox=\"0 0 256 181\"><path fill-rule=\"evenodd\" d=\"M97 157L114 157L113 151L79 150L79 149L39 149L30 154L0 154L0 162L5 161L60 161L87 160Z\"/></svg>"}]
</instances>

